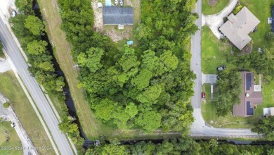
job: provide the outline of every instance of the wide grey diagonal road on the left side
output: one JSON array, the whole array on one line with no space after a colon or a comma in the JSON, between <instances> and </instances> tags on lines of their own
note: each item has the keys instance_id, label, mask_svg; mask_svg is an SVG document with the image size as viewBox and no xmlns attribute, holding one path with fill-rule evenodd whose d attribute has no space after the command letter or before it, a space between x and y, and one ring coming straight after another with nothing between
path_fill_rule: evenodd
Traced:
<instances>
[{"instance_id":1,"label":"wide grey diagonal road on the left side","mask_svg":"<svg viewBox=\"0 0 274 155\"><path fill-rule=\"evenodd\" d=\"M15 44L13 37L11 37L11 34L8 32L8 29L6 28L6 25L2 19L0 20L0 39L6 48L8 56L11 58L11 61L13 61L18 75L20 75L22 78L22 81L25 83L25 86L30 92L30 95L34 99L34 102L37 104L41 116L43 116L44 121L57 144L60 154L73 154L73 151L70 148L70 144L67 141L65 135L58 129L58 120L54 115L51 106L48 104L48 101L41 91L41 88L37 84L37 81L30 75L29 71L27 70L27 63L20 54L18 46ZM30 118L30 121L32 121L32 118Z\"/></svg>"}]
</instances>

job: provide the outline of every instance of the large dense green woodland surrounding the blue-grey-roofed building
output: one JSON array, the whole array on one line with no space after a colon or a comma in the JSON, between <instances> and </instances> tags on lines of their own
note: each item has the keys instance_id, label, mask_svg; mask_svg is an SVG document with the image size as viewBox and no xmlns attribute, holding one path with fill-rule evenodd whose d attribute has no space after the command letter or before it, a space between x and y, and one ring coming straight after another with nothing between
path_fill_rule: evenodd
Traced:
<instances>
[{"instance_id":1,"label":"large dense green woodland surrounding the blue-grey-roofed building","mask_svg":"<svg viewBox=\"0 0 274 155\"><path fill-rule=\"evenodd\" d=\"M98 119L116 128L187 132L193 121L190 51L195 0L141 1L138 46L119 47L92 30L90 1L59 1L63 30L81 67L79 87Z\"/></svg>"}]
</instances>

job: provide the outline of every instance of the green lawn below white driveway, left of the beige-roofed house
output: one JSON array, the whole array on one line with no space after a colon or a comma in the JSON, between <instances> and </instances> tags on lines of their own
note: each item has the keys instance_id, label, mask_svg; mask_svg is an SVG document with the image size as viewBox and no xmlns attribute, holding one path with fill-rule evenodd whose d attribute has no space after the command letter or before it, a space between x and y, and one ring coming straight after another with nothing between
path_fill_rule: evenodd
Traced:
<instances>
[{"instance_id":1,"label":"green lawn below white driveway, left of the beige-roofed house","mask_svg":"<svg viewBox=\"0 0 274 155\"><path fill-rule=\"evenodd\" d=\"M220 42L209 27L202 27L202 72L216 74L216 68L222 65L226 65L228 69L235 68L226 62L226 56L232 56L230 49L231 46Z\"/></svg>"}]
</instances>

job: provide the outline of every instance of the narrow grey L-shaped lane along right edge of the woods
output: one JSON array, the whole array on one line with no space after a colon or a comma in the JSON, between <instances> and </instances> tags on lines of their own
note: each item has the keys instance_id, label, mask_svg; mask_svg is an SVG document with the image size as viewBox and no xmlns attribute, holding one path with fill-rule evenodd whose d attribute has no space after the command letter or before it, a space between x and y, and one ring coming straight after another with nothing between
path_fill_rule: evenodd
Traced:
<instances>
[{"instance_id":1,"label":"narrow grey L-shaped lane along right edge of the woods","mask_svg":"<svg viewBox=\"0 0 274 155\"><path fill-rule=\"evenodd\" d=\"M193 12L198 13L199 18L195 21L195 24L199 27L199 30L191 37L191 63L190 69L196 74L194 96L191 98L191 105L193 106L194 122L191 125L191 136L212 136L212 137L237 137L237 136L257 136L258 134L251 132L250 129L226 129L226 128L211 128L209 127L202 117L201 111L201 93L202 93L202 0L198 0L196 8ZM208 111L211 113L211 111Z\"/></svg>"}]
</instances>

